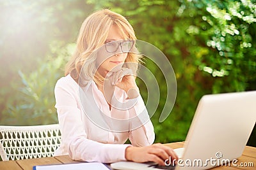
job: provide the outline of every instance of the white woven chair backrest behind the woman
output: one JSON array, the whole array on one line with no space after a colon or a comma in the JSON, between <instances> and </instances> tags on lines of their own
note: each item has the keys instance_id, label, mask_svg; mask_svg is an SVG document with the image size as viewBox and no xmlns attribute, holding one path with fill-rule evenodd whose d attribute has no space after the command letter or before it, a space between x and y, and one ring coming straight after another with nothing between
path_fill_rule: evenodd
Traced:
<instances>
[{"instance_id":1,"label":"white woven chair backrest behind the woman","mask_svg":"<svg viewBox=\"0 0 256 170\"><path fill-rule=\"evenodd\" d=\"M0 125L0 155L2 160L52 157L60 146L58 124L33 126Z\"/></svg>"}]
</instances>

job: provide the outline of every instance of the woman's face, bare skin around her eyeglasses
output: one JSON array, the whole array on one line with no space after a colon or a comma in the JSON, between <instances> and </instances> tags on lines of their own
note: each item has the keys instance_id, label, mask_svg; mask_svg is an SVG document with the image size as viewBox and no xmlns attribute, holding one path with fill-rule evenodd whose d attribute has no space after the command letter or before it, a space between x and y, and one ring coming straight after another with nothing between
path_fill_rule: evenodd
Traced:
<instances>
[{"instance_id":1,"label":"woman's face, bare skin around her eyeglasses","mask_svg":"<svg viewBox=\"0 0 256 170\"><path fill-rule=\"evenodd\" d=\"M118 31L118 27L116 25L112 25L109 29L108 38L105 43L109 43L111 41L116 41L120 39L124 39ZM108 47L107 47L108 48ZM97 66L99 66L98 71L102 76L106 76L109 71L119 71L124 61L127 57L127 52L122 52L120 45L116 52L107 52L105 45L103 45L99 53L97 55Z\"/></svg>"}]
</instances>

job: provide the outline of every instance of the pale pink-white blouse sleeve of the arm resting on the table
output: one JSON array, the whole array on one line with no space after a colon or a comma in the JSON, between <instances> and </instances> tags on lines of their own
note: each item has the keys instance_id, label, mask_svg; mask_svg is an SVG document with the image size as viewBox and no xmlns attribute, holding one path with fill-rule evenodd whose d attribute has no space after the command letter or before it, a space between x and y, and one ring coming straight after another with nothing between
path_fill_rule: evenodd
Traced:
<instances>
[{"instance_id":1,"label":"pale pink-white blouse sleeve of the arm resting on the table","mask_svg":"<svg viewBox=\"0 0 256 170\"><path fill-rule=\"evenodd\" d=\"M102 144L87 139L81 119L81 110L76 101L77 90L70 85L70 82L64 80L58 80L54 89L61 130L61 145L74 160L104 163L125 160L125 148L129 145Z\"/></svg>"}]
</instances>

